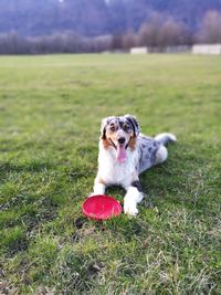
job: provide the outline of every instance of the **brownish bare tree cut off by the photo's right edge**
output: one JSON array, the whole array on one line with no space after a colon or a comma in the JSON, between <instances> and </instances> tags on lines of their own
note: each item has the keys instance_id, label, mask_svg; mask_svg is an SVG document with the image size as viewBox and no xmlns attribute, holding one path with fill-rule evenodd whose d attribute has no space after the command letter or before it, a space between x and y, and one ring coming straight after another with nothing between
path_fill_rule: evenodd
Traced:
<instances>
[{"instance_id":1,"label":"brownish bare tree cut off by the photo's right edge","mask_svg":"<svg viewBox=\"0 0 221 295\"><path fill-rule=\"evenodd\" d=\"M206 13L201 30L198 34L198 41L204 43L221 42L221 13L209 11Z\"/></svg>"}]
</instances>

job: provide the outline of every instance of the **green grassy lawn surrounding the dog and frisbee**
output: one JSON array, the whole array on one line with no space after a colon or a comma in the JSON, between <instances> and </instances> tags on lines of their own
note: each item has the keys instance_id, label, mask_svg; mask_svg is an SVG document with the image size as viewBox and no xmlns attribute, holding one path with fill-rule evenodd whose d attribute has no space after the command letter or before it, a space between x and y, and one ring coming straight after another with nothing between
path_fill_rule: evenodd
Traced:
<instances>
[{"instance_id":1,"label":"green grassy lawn surrounding the dog and frisbee","mask_svg":"<svg viewBox=\"0 0 221 295\"><path fill-rule=\"evenodd\" d=\"M99 122L127 113L178 143L137 218L88 221ZM220 57L1 56L0 294L221 294L220 147Z\"/></svg>"}]
</instances>

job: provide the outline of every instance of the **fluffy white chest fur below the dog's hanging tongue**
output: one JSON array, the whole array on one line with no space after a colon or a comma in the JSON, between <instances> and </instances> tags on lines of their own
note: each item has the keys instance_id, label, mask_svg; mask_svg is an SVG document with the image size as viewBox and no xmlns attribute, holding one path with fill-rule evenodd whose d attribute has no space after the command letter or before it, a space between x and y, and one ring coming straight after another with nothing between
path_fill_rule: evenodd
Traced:
<instances>
[{"instance_id":1,"label":"fluffy white chest fur below the dog's hanging tongue","mask_svg":"<svg viewBox=\"0 0 221 295\"><path fill-rule=\"evenodd\" d=\"M99 144L98 176L107 186L118 185L127 189L131 181L135 180L138 155L136 149L131 151L130 148L127 148L126 154L126 160L120 164L116 160L114 147L105 149Z\"/></svg>"}]
</instances>

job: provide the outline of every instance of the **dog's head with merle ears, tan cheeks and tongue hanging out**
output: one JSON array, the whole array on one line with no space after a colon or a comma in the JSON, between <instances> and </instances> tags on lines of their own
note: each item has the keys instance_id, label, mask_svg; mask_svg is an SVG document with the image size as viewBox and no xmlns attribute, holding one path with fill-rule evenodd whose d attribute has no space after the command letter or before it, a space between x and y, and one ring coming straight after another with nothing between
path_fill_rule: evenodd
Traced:
<instances>
[{"instance_id":1,"label":"dog's head with merle ears, tan cheeks and tongue hanging out","mask_svg":"<svg viewBox=\"0 0 221 295\"><path fill-rule=\"evenodd\" d=\"M113 146L116 150L116 159L124 162L126 149L135 149L136 138L139 135L139 125L131 115L122 117L107 117L102 120L102 136L105 148Z\"/></svg>"}]
</instances>

